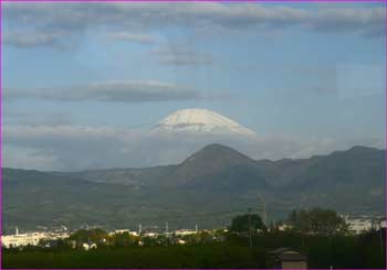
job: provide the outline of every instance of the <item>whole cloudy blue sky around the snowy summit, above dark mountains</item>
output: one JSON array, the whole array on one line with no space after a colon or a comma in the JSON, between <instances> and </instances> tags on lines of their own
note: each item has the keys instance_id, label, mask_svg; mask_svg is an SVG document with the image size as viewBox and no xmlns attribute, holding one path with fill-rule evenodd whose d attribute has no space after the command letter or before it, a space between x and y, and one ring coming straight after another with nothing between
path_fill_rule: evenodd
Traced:
<instances>
[{"instance_id":1,"label":"whole cloudy blue sky around the snowy summit, above dark mountains","mask_svg":"<svg viewBox=\"0 0 387 270\"><path fill-rule=\"evenodd\" d=\"M385 148L380 3L2 3L2 162L35 170ZM257 132L149 134L185 108Z\"/></svg>"}]
</instances>

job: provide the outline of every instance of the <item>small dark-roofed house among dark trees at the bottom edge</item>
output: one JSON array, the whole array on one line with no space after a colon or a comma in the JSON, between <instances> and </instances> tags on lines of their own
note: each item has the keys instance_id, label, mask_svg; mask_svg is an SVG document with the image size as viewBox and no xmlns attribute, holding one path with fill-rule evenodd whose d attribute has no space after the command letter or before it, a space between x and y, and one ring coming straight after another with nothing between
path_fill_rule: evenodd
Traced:
<instances>
[{"instance_id":1,"label":"small dark-roofed house among dark trees at the bottom edge","mask_svg":"<svg viewBox=\"0 0 387 270\"><path fill-rule=\"evenodd\" d=\"M290 248L278 248L269 252L276 269L307 269L307 258Z\"/></svg>"}]
</instances>

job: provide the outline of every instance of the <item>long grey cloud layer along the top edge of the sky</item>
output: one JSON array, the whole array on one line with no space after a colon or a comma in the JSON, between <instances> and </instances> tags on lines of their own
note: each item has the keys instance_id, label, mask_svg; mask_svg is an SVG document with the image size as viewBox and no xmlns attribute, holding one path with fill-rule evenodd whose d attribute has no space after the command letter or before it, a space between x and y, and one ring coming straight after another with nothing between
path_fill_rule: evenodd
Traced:
<instances>
[{"instance_id":1,"label":"long grey cloud layer along the top edge of the sky","mask_svg":"<svg viewBox=\"0 0 387 270\"><path fill-rule=\"evenodd\" d=\"M245 31L249 29L304 28L317 32L356 33L363 36L384 36L385 9L383 7L318 7L310 9L257 3L10 3L3 4L9 44L46 45L56 36L44 33L79 33L87 29L104 28L119 31L158 31L166 26L208 30L222 28ZM17 36L15 31L27 33ZM51 35L51 34L50 34ZM32 37L34 36L34 37ZM151 42L150 36L116 34L121 40ZM54 39L54 40L53 40Z\"/></svg>"}]
</instances>

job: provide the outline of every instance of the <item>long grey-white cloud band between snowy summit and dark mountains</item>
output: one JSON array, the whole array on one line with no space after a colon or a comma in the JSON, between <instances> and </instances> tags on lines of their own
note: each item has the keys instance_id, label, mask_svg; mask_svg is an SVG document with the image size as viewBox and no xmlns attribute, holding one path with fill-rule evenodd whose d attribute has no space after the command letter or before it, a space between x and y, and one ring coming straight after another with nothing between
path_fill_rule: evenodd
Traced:
<instances>
[{"instance_id":1,"label":"long grey-white cloud band between snowy summit and dark mountains","mask_svg":"<svg viewBox=\"0 0 387 270\"><path fill-rule=\"evenodd\" d=\"M344 140L344 139L343 139ZM3 129L3 165L38 170L145 168L181 162L210 143L223 143L254 159L310 158L356 143L330 138L236 137L154 133L144 129L85 126L10 126Z\"/></svg>"}]
</instances>

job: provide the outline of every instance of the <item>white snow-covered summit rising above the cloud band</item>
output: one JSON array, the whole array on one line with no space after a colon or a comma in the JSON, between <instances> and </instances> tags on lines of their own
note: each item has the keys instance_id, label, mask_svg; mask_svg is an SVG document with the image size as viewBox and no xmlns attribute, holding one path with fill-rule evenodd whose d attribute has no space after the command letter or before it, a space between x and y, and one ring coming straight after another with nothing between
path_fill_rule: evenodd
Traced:
<instances>
[{"instance_id":1,"label":"white snow-covered summit rising above the cloud band","mask_svg":"<svg viewBox=\"0 0 387 270\"><path fill-rule=\"evenodd\" d=\"M253 136L254 131L208 109L182 109L164 118L155 131Z\"/></svg>"}]
</instances>

